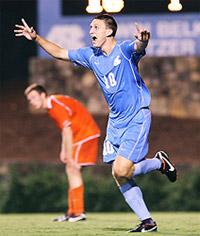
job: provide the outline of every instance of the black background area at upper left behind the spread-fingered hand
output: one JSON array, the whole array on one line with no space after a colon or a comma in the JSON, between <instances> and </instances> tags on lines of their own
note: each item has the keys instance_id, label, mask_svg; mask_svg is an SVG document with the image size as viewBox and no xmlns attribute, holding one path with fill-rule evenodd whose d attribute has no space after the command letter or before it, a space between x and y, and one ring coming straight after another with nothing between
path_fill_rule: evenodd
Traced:
<instances>
[{"instance_id":1,"label":"black background area at upper left behind the spread-fingered hand","mask_svg":"<svg viewBox=\"0 0 200 236\"><path fill-rule=\"evenodd\" d=\"M15 24L21 18L28 19L30 25L37 27L37 1L0 1L1 66L2 85L28 80L28 59L36 56L36 44L25 38L15 38Z\"/></svg>"}]
</instances>

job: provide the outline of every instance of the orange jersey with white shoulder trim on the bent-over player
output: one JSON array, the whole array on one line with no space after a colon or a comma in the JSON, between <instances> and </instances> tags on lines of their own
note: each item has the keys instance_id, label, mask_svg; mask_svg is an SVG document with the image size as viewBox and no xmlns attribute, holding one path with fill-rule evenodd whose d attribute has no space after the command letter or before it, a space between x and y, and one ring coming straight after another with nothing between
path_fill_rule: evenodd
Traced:
<instances>
[{"instance_id":1,"label":"orange jersey with white shoulder trim on the bent-over player","mask_svg":"<svg viewBox=\"0 0 200 236\"><path fill-rule=\"evenodd\" d=\"M90 113L74 98L64 95L49 96L48 114L60 129L66 126L72 128L74 144L100 136L100 130Z\"/></svg>"}]
</instances>

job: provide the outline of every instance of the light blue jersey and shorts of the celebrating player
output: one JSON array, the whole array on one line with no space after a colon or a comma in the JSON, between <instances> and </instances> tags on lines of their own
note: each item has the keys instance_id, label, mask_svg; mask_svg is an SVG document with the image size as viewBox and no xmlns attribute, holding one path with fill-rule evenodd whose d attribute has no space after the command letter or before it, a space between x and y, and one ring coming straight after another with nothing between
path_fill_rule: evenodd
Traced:
<instances>
[{"instance_id":1,"label":"light blue jersey and shorts of the celebrating player","mask_svg":"<svg viewBox=\"0 0 200 236\"><path fill-rule=\"evenodd\" d=\"M118 155L141 161L148 152L151 123L150 93L137 68L145 51L137 53L134 42L127 40L117 42L109 55L94 47L69 50L68 55L73 63L93 71L108 103L104 161L110 163Z\"/></svg>"}]
</instances>

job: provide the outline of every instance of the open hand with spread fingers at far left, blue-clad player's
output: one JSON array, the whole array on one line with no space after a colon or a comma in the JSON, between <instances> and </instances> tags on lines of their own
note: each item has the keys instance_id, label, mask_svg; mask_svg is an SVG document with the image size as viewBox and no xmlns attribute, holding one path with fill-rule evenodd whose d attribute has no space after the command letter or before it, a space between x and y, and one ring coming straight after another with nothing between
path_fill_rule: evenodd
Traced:
<instances>
[{"instance_id":1,"label":"open hand with spread fingers at far left, blue-clad player's","mask_svg":"<svg viewBox=\"0 0 200 236\"><path fill-rule=\"evenodd\" d=\"M14 30L16 37L24 36L28 40L35 40L37 37L36 31L33 27L29 27L26 21L22 18L23 25L15 25L17 29Z\"/></svg>"}]
</instances>

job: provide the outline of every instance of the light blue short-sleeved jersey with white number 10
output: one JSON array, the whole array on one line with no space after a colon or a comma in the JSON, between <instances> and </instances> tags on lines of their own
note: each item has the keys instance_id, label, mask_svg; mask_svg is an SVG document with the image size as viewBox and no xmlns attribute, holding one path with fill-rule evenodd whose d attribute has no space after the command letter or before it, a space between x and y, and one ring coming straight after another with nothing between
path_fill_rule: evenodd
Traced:
<instances>
[{"instance_id":1,"label":"light blue short-sleeved jersey with white number 10","mask_svg":"<svg viewBox=\"0 0 200 236\"><path fill-rule=\"evenodd\" d=\"M117 43L107 56L100 49L86 47L69 51L72 62L94 72L110 109L110 122L125 127L142 107L150 104L150 93L141 79L134 42Z\"/></svg>"}]
</instances>

